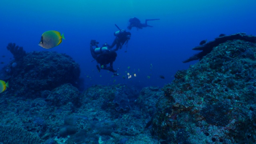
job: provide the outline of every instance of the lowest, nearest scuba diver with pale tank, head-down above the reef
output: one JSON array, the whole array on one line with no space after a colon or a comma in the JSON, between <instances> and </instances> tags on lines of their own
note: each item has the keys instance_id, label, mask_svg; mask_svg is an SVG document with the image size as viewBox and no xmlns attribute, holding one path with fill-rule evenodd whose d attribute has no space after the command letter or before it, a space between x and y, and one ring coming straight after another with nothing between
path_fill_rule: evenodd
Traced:
<instances>
[{"instance_id":1,"label":"lowest, nearest scuba diver with pale tank, head-down above the reef","mask_svg":"<svg viewBox=\"0 0 256 144\"><path fill-rule=\"evenodd\" d=\"M97 64L96 67L100 72L101 69L109 70L110 72L114 73L114 76L118 76L117 70L113 69L113 62L116 60L116 52L114 50L109 49L109 45L107 43L103 44L102 47L98 47L99 42L96 40L91 40L90 42L90 51L94 60L100 64ZM95 46L95 47L94 47ZM109 64L109 66L108 66Z\"/></svg>"}]
</instances>

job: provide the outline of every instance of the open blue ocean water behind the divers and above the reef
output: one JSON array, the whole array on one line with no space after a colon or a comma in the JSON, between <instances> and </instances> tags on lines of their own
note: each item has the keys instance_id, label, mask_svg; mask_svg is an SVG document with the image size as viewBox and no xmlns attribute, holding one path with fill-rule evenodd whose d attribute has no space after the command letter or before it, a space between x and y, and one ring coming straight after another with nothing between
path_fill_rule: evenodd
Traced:
<instances>
[{"instance_id":1,"label":"open blue ocean water behind the divers and above the reef","mask_svg":"<svg viewBox=\"0 0 256 144\"><path fill-rule=\"evenodd\" d=\"M1 0L0 62L4 64L0 68L12 58L6 49L9 42L26 52L44 51L38 46L42 33L57 30L66 40L48 51L66 53L78 62L85 87L125 83L162 87L177 70L197 62L182 63L197 53L192 48L201 40L214 40L221 33L256 35L255 4L252 0ZM91 62L90 40L111 44L118 30L114 24L126 29L130 17L141 22L160 20L148 22L153 28L130 30L127 52L126 46L118 50L114 62L114 69L120 66L119 76L106 70L99 73L96 61ZM128 79L127 72L136 77Z\"/></svg>"}]
</instances>

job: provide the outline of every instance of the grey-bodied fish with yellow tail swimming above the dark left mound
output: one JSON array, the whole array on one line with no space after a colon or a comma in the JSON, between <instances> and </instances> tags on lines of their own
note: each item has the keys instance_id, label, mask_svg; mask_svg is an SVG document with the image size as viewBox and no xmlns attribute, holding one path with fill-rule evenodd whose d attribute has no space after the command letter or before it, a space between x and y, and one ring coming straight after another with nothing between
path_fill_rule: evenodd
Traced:
<instances>
[{"instance_id":1,"label":"grey-bodied fish with yellow tail swimming above the dark left mound","mask_svg":"<svg viewBox=\"0 0 256 144\"><path fill-rule=\"evenodd\" d=\"M62 42L62 38L65 40L64 35L60 35L60 32L49 30L42 34L38 45L46 49L53 48Z\"/></svg>"}]
</instances>

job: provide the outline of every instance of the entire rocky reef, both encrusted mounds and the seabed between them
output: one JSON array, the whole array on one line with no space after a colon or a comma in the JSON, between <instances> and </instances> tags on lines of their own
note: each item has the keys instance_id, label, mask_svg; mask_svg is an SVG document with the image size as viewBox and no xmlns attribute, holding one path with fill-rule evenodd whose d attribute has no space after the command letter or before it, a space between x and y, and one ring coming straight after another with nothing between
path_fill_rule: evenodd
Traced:
<instances>
[{"instance_id":1,"label":"entire rocky reef, both encrusted mounds and the seabed between them","mask_svg":"<svg viewBox=\"0 0 256 144\"><path fill-rule=\"evenodd\" d=\"M12 86L0 94L3 143L256 143L254 42L218 44L162 89L96 85L81 94L78 64L55 52L28 53L2 72Z\"/></svg>"}]
</instances>

